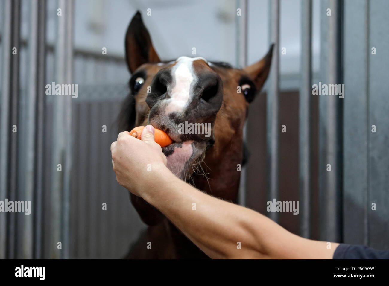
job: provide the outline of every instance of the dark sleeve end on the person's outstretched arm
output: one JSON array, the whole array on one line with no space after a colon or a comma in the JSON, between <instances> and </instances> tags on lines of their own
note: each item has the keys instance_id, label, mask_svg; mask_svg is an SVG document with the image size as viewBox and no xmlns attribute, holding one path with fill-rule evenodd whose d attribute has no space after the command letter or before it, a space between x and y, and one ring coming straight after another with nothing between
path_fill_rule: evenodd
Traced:
<instances>
[{"instance_id":1,"label":"dark sleeve end on the person's outstretched arm","mask_svg":"<svg viewBox=\"0 0 389 286\"><path fill-rule=\"evenodd\" d=\"M389 259L389 250L377 250L365 245L339 244L333 259Z\"/></svg>"}]
</instances>

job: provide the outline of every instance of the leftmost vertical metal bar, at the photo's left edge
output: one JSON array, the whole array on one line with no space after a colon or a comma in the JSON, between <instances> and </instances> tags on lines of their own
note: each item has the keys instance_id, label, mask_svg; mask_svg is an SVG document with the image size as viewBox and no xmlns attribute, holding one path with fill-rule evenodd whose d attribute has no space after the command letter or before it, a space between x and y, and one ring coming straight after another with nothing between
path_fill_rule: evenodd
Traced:
<instances>
[{"instance_id":1,"label":"leftmost vertical metal bar, at the photo's left edge","mask_svg":"<svg viewBox=\"0 0 389 286\"><path fill-rule=\"evenodd\" d=\"M0 121L0 199L7 198L8 175L9 175L9 138L11 129L10 106L11 106L11 57L12 57L12 0L4 0L4 30L3 42L3 82L2 104ZM7 213L0 216L0 259L6 258L7 242Z\"/></svg>"}]
</instances>

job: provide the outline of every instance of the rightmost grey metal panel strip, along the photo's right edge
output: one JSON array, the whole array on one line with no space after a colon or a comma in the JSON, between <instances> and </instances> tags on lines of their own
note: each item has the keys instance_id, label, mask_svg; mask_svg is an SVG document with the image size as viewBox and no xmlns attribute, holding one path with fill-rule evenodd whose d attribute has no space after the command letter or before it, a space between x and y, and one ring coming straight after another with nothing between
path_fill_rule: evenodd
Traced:
<instances>
[{"instance_id":1,"label":"rightmost grey metal panel strip, along the photo's right edge","mask_svg":"<svg viewBox=\"0 0 389 286\"><path fill-rule=\"evenodd\" d=\"M389 39L389 2L385 0L368 2L368 191L365 199L368 206L366 232L368 244L378 249L389 248L389 104L387 93L389 81L389 58L385 53L379 53L380 47L388 47ZM372 54L372 47L377 48L377 54ZM346 95L347 96L347 95ZM372 132L372 125L377 130ZM382 205L381 209L373 211L372 203Z\"/></svg>"}]
</instances>

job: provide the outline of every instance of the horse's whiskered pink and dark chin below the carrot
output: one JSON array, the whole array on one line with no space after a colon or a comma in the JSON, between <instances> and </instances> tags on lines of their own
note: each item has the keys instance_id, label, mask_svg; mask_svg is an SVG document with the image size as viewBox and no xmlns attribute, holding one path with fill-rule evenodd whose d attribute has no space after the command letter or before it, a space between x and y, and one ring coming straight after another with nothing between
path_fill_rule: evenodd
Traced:
<instances>
[{"instance_id":1,"label":"horse's whiskered pink and dark chin below the carrot","mask_svg":"<svg viewBox=\"0 0 389 286\"><path fill-rule=\"evenodd\" d=\"M167 167L181 180L186 181L196 170L196 165L205 157L207 141L187 140L174 142L162 148L167 159Z\"/></svg>"}]
</instances>

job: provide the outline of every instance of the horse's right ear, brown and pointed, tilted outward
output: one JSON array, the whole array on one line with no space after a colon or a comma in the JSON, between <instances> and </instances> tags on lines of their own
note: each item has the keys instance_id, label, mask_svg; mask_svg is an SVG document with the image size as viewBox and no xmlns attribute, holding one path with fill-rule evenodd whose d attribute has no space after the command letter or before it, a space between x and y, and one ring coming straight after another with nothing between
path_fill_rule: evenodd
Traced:
<instances>
[{"instance_id":1,"label":"horse's right ear, brown and pointed, tilted outward","mask_svg":"<svg viewBox=\"0 0 389 286\"><path fill-rule=\"evenodd\" d=\"M269 75L270 65L272 63L273 47L274 44L270 46L268 53L262 60L243 69L253 79L258 92L261 91L263 84Z\"/></svg>"}]
</instances>

